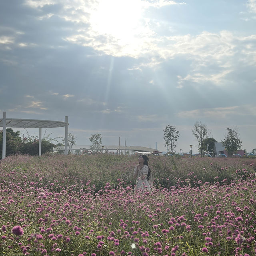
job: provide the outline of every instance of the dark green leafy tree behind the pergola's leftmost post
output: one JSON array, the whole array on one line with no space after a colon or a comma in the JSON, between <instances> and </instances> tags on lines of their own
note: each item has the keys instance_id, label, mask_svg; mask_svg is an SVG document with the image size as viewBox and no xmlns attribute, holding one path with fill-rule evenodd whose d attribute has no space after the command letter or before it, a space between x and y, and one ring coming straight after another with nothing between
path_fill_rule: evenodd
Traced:
<instances>
[{"instance_id":1,"label":"dark green leafy tree behind the pergola's leftmost post","mask_svg":"<svg viewBox=\"0 0 256 256\"><path fill-rule=\"evenodd\" d=\"M14 132L12 128L6 128L6 156L20 152L22 143L20 131ZM3 149L3 131L0 131L0 157L2 158Z\"/></svg>"}]
</instances>

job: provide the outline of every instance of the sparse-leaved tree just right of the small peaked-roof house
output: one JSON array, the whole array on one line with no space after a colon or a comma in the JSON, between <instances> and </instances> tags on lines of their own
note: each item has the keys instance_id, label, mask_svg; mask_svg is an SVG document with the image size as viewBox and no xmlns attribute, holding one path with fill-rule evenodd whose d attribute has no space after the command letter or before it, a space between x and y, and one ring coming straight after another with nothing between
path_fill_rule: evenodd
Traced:
<instances>
[{"instance_id":1,"label":"sparse-leaved tree just right of the small peaked-roof house","mask_svg":"<svg viewBox=\"0 0 256 256\"><path fill-rule=\"evenodd\" d=\"M221 143L228 151L228 156L232 156L237 150L241 149L242 141L239 139L237 128L226 128L226 130L228 134Z\"/></svg>"}]
</instances>

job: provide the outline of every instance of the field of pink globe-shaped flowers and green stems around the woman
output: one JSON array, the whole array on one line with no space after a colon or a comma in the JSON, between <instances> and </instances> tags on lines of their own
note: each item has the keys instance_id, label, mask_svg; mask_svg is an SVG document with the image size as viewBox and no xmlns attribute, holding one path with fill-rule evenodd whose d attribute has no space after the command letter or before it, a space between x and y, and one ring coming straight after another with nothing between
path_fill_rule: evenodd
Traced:
<instances>
[{"instance_id":1,"label":"field of pink globe-shaped flowers and green stems around the woman","mask_svg":"<svg viewBox=\"0 0 256 256\"><path fill-rule=\"evenodd\" d=\"M0 255L252 256L255 158L10 156L0 162Z\"/></svg>"}]
</instances>

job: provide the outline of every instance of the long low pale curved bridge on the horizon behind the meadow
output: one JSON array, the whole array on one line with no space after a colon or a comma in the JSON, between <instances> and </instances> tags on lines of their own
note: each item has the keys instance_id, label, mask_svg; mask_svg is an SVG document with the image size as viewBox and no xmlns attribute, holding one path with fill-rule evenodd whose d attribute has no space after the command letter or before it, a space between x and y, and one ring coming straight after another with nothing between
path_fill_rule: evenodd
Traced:
<instances>
[{"instance_id":1,"label":"long low pale curved bridge on the horizon behind the meadow","mask_svg":"<svg viewBox=\"0 0 256 256\"><path fill-rule=\"evenodd\" d=\"M64 151L65 147L64 146L58 146L56 148L57 151ZM147 147L142 147L142 146L107 146L107 145L102 145L100 146L100 148L95 148L92 149L91 145L89 146L78 146L78 145L74 145L72 146L72 149L68 149L68 151L80 151L81 153L85 153L85 152L92 152L92 150L97 150L99 152L113 152L116 153L117 151L119 152L119 154L122 154L122 151L133 151L133 153L135 154L135 152L154 152L156 149L155 148L147 148ZM112 153L112 154L113 154Z\"/></svg>"}]
</instances>

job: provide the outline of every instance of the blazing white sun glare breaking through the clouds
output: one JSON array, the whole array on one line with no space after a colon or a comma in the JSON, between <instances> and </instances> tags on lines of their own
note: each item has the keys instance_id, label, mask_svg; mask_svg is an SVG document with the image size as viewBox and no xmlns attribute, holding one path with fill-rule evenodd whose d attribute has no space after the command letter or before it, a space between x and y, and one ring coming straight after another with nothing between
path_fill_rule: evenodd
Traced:
<instances>
[{"instance_id":1,"label":"blazing white sun glare breaking through the clouds","mask_svg":"<svg viewBox=\"0 0 256 256\"><path fill-rule=\"evenodd\" d=\"M121 43L134 40L143 30L143 6L140 0L100 0L92 11L92 30L110 35Z\"/></svg>"}]
</instances>

